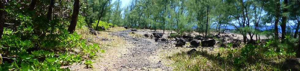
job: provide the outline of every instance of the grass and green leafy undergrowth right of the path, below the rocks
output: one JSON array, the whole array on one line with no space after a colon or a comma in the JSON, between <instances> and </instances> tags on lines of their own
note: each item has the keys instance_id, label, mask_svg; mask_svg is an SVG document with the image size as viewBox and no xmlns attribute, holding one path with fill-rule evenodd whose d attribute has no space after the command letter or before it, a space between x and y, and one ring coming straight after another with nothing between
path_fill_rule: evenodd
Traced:
<instances>
[{"instance_id":1,"label":"grass and green leafy undergrowth right of the path, below the rocks","mask_svg":"<svg viewBox=\"0 0 300 71\"><path fill-rule=\"evenodd\" d=\"M168 58L177 71L282 71L283 61L295 57L289 46L294 45L276 47L274 40L260 45L243 44L240 48L233 48L229 43L214 50L201 48L190 55L183 51Z\"/></svg>"}]
</instances>

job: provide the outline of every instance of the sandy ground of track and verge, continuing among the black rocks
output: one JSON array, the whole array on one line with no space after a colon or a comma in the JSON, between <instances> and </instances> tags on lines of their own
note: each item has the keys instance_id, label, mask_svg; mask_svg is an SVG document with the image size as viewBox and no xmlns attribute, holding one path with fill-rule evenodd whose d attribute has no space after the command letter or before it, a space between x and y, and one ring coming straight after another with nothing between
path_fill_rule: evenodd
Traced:
<instances>
[{"instance_id":1,"label":"sandy ground of track and verge, continuing among the black rocks","mask_svg":"<svg viewBox=\"0 0 300 71\"><path fill-rule=\"evenodd\" d=\"M175 41L155 42L153 38L143 36L144 34L152 34L153 32L163 33L163 30L141 29L133 34L131 34L130 29L107 31L106 35L100 37L114 38L111 38L110 42L103 43L106 44L102 45L102 48L106 52L99 53L98 58L92 60L94 62L92 64L93 68L86 69L85 65L80 63L74 63L64 68L68 67L74 71L170 71L172 70L171 63L173 62L171 62L168 56L193 49L189 48L189 44L183 47L175 47ZM163 38L167 38L170 33L171 31L165 31ZM215 34L217 33L212 33L212 35ZM197 35L201 34L197 32L191 33L191 36ZM217 42L229 43L233 39L242 40L242 35L231 32L222 33L220 36L220 38L216 39ZM99 36L93 37L98 38ZM253 37L253 39L255 38ZM260 36L260 38L267 39L265 36ZM99 43L98 41L101 41L101 39L94 41L94 43ZM218 44L215 47L218 47ZM208 48L208 50L213 50L213 48Z\"/></svg>"}]
</instances>

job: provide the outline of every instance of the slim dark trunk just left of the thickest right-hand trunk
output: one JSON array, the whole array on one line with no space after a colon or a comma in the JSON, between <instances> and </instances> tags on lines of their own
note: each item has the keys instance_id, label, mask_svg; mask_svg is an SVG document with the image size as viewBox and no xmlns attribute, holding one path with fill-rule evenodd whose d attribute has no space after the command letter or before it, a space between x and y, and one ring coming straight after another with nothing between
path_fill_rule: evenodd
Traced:
<instances>
[{"instance_id":1,"label":"slim dark trunk just left of the thickest right-hand trunk","mask_svg":"<svg viewBox=\"0 0 300 71\"><path fill-rule=\"evenodd\" d=\"M276 13L276 17L275 17L275 24L274 24L274 28L275 28L275 39L278 39L278 22L279 22L279 17L280 17L280 0L278 0L277 2L277 13Z\"/></svg>"}]
</instances>

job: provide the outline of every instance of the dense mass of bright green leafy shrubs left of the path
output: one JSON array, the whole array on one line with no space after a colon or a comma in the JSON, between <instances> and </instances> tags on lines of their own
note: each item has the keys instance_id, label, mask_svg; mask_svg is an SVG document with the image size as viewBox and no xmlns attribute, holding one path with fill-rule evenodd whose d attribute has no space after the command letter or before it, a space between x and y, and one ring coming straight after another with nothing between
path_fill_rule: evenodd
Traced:
<instances>
[{"instance_id":1,"label":"dense mass of bright green leafy shrubs left of the path","mask_svg":"<svg viewBox=\"0 0 300 71\"><path fill-rule=\"evenodd\" d=\"M12 6L6 7L7 21L13 25L4 28L0 54L13 62L0 63L1 71L69 71L60 67L92 59L100 50L98 44L86 44L76 32L70 34L66 29L68 19L56 17L49 21L43 15L36 16L37 13L23 9L16 1L9 1L8 5ZM79 16L77 29L85 29L84 19Z\"/></svg>"}]
</instances>

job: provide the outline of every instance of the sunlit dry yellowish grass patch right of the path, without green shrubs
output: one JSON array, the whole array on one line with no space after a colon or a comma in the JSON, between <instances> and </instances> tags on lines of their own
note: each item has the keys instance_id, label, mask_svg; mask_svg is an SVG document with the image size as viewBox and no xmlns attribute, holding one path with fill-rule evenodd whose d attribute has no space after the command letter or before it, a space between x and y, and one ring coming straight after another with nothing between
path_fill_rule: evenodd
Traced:
<instances>
[{"instance_id":1,"label":"sunlit dry yellowish grass patch right of the path, without green shrubs","mask_svg":"<svg viewBox=\"0 0 300 71\"><path fill-rule=\"evenodd\" d=\"M260 54L250 56L246 60L240 55L242 48L197 48L191 55L186 51L175 53L171 66L176 71L282 71L278 58L266 58ZM255 50L256 51L256 50ZM232 56L232 57L230 57ZM276 61L277 60L277 61ZM282 62L284 59L280 59ZM238 63L240 62L240 63Z\"/></svg>"}]
</instances>

